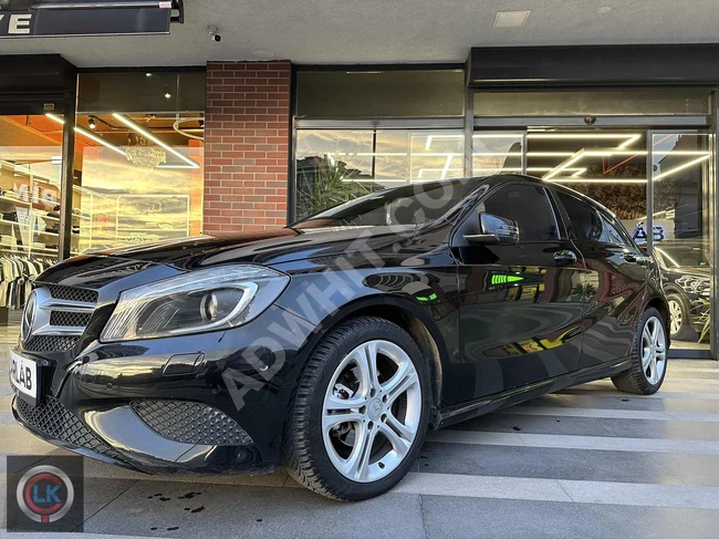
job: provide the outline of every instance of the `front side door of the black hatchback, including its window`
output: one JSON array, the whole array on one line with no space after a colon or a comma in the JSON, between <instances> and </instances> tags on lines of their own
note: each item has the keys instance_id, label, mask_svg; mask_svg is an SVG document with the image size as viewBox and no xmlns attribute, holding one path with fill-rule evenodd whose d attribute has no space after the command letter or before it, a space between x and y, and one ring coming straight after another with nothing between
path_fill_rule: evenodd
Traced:
<instances>
[{"instance_id":1,"label":"front side door of the black hatchback, including its window","mask_svg":"<svg viewBox=\"0 0 719 539\"><path fill-rule=\"evenodd\" d=\"M560 227L546 189L535 183L504 185L476 211L517 221L520 241L468 245L461 234L454 238L459 262L460 402L573 371L582 336L584 265Z\"/></svg>"}]
</instances>

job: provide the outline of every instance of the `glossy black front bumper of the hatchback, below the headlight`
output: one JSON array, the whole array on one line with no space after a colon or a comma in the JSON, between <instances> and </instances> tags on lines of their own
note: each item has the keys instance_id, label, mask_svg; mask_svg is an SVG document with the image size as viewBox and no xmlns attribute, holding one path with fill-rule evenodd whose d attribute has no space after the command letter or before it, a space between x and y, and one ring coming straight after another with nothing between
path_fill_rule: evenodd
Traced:
<instances>
[{"instance_id":1,"label":"glossy black front bumper of the hatchback, below the headlight","mask_svg":"<svg viewBox=\"0 0 719 539\"><path fill-rule=\"evenodd\" d=\"M37 407L15 397L17 421L37 436L146 473L272 471L302 343L268 328L294 315L271 307L230 331L103 345L44 361ZM306 328L305 325L295 325ZM194 356L183 371L170 359Z\"/></svg>"}]
</instances>

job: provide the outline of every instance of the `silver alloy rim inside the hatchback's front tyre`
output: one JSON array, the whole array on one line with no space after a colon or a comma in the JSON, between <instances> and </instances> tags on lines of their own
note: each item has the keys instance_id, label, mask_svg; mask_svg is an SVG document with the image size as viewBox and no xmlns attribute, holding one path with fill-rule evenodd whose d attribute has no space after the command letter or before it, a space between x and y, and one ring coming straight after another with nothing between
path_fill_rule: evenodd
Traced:
<instances>
[{"instance_id":1,"label":"silver alloy rim inside the hatchback's front tyre","mask_svg":"<svg viewBox=\"0 0 719 539\"><path fill-rule=\"evenodd\" d=\"M405 459L421 417L419 375L389 341L368 341L340 362L322 406L322 437L335 469L372 483Z\"/></svg>"}]
</instances>

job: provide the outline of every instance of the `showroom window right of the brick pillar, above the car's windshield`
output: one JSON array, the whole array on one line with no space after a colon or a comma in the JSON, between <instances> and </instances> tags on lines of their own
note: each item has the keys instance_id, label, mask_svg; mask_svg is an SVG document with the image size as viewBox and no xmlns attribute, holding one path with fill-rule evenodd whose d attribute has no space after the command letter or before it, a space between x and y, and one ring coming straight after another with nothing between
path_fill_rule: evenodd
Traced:
<instances>
[{"instance_id":1,"label":"showroom window right of the brick pillar, above the car's windshield","mask_svg":"<svg viewBox=\"0 0 719 539\"><path fill-rule=\"evenodd\" d=\"M294 217L463 175L463 71L296 73Z\"/></svg>"}]
</instances>

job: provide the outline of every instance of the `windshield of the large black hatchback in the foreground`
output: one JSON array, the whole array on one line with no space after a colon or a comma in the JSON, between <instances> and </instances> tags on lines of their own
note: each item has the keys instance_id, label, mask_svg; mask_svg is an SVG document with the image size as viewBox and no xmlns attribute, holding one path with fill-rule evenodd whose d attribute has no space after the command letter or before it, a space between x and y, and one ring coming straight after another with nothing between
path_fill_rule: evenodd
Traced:
<instances>
[{"instance_id":1,"label":"windshield of the large black hatchback in the foreground","mask_svg":"<svg viewBox=\"0 0 719 539\"><path fill-rule=\"evenodd\" d=\"M405 185L355 198L292 225L293 228L424 225L442 217L481 179L452 179Z\"/></svg>"}]
</instances>

